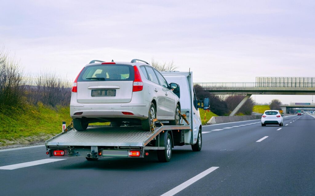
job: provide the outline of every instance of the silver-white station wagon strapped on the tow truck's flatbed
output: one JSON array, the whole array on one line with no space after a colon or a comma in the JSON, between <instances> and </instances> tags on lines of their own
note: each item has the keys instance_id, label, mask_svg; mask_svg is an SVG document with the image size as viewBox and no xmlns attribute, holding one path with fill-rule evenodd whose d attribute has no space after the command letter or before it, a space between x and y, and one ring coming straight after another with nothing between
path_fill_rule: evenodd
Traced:
<instances>
[{"instance_id":1,"label":"silver-white station wagon strapped on the tow truck's flatbed","mask_svg":"<svg viewBox=\"0 0 315 196\"><path fill-rule=\"evenodd\" d=\"M149 63L93 60L78 74L72 86L70 116L77 131L89 123L141 124L150 130L153 119L180 123L179 85L168 84Z\"/></svg>"}]
</instances>

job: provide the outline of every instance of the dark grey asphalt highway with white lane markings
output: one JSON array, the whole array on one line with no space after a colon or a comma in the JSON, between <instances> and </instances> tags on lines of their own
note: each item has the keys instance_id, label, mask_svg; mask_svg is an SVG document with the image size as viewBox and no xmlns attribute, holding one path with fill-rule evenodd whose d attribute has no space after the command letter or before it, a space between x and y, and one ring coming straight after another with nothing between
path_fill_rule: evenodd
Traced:
<instances>
[{"instance_id":1,"label":"dark grey asphalt highway with white lane markings","mask_svg":"<svg viewBox=\"0 0 315 196\"><path fill-rule=\"evenodd\" d=\"M44 146L1 150L0 194L315 195L315 118L288 116L284 125L204 126L202 150L175 147L168 163L158 162L155 151L142 159L86 161L51 160Z\"/></svg>"}]
</instances>

